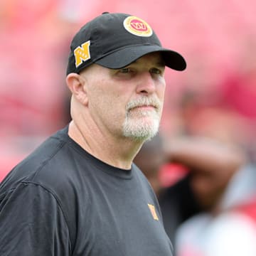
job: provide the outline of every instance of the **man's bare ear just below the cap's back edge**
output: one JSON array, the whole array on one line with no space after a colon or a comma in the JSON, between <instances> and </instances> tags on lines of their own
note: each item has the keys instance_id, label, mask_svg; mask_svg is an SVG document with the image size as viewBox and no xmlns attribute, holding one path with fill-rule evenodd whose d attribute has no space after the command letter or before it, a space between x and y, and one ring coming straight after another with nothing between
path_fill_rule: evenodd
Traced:
<instances>
[{"instance_id":1,"label":"man's bare ear just below the cap's back edge","mask_svg":"<svg viewBox=\"0 0 256 256\"><path fill-rule=\"evenodd\" d=\"M87 105L88 103L85 83L86 80L76 73L70 73L66 78L66 84L72 92L73 97L82 105Z\"/></svg>"}]
</instances>

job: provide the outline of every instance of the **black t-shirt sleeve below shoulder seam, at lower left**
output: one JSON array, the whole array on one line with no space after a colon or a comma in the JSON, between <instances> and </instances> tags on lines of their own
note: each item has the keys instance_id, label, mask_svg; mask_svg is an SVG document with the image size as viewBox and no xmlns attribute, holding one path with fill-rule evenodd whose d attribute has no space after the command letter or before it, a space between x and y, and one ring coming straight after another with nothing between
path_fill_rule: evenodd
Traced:
<instances>
[{"instance_id":1,"label":"black t-shirt sleeve below shoulder seam, at lower left","mask_svg":"<svg viewBox=\"0 0 256 256\"><path fill-rule=\"evenodd\" d=\"M71 255L68 225L52 193L21 183L1 198L0 255Z\"/></svg>"}]
</instances>

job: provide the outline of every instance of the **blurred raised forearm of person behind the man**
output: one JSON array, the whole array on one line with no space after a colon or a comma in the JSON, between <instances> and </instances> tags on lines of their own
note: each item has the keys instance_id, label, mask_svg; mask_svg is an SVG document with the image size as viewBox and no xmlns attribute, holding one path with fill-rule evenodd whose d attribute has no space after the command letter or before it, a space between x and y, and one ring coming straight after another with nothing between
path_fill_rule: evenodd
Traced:
<instances>
[{"instance_id":1,"label":"blurred raised forearm of person behind the man","mask_svg":"<svg viewBox=\"0 0 256 256\"><path fill-rule=\"evenodd\" d=\"M246 156L238 146L203 137L172 139L165 147L169 160L201 171L235 171L245 164Z\"/></svg>"}]
</instances>

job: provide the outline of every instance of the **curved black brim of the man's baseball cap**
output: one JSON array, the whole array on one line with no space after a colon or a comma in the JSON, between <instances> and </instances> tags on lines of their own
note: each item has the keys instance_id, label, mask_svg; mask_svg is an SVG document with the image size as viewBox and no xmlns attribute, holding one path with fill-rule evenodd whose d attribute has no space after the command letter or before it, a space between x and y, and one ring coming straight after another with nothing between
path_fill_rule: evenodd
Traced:
<instances>
[{"instance_id":1,"label":"curved black brim of the man's baseball cap","mask_svg":"<svg viewBox=\"0 0 256 256\"><path fill-rule=\"evenodd\" d=\"M156 52L161 52L167 67L178 71L186 69L186 60L182 55L174 50L161 48L161 46L132 46L129 48L122 48L100 58L100 60L96 60L95 63L106 68L124 68L138 58L141 58L143 55Z\"/></svg>"}]
</instances>

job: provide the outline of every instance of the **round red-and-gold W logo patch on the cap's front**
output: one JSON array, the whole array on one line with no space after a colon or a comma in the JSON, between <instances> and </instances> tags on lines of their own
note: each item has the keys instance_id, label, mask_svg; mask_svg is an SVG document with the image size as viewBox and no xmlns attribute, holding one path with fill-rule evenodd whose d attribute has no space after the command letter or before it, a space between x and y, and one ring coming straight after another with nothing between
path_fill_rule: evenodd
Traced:
<instances>
[{"instance_id":1,"label":"round red-and-gold W logo patch on the cap's front","mask_svg":"<svg viewBox=\"0 0 256 256\"><path fill-rule=\"evenodd\" d=\"M135 36L151 36L153 31L146 21L136 16L129 16L124 20L124 28Z\"/></svg>"}]
</instances>

